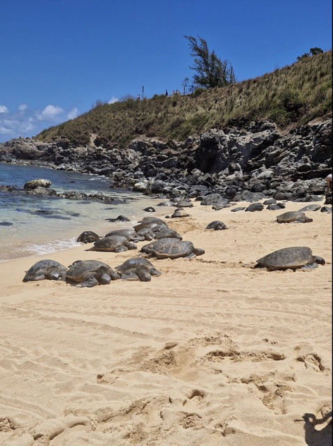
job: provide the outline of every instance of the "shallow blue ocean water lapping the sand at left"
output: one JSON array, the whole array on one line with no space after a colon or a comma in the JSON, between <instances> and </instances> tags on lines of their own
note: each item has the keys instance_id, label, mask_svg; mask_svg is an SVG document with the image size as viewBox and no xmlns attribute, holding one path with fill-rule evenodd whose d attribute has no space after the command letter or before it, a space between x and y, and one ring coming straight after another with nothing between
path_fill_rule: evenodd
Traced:
<instances>
[{"instance_id":1,"label":"shallow blue ocean water lapping the sand at left","mask_svg":"<svg viewBox=\"0 0 333 446\"><path fill-rule=\"evenodd\" d=\"M0 191L0 261L79 246L81 243L76 243L76 238L83 231L104 236L112 229L132 227L149 215L143 212L144 208L156 205L156 200L142 194L111 189L108 178L103 176L0 163L0 185L22 188L26 181L35 178L51 180L51 188L56 192L102 192L130 201L106 204ZM118 215L126 216L131 222L106 221Z\"/></svg>"}]
</instances>

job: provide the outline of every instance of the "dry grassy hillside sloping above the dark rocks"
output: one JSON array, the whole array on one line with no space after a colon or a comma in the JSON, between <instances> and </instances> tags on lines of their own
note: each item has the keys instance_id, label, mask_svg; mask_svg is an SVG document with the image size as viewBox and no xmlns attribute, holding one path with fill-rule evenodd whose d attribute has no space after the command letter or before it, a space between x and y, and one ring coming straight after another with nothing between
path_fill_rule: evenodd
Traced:
<instances>
[{"instance_id":1,"label":"dry grassy hillside sloping above the dark rocks","mask_svg":"<svg viewBox=\"0 0 333 446\"><path fill-rule=\"evenodd\" d=\"M285 128L330 116L331 110L332 51L223 88L100 104L78 118L43 130L36 138L67 138L86 145L95 134L97 146L126 146L139 134L184 140L190 134L244 119L269 119Z\"/></svg>"}]
</instances>

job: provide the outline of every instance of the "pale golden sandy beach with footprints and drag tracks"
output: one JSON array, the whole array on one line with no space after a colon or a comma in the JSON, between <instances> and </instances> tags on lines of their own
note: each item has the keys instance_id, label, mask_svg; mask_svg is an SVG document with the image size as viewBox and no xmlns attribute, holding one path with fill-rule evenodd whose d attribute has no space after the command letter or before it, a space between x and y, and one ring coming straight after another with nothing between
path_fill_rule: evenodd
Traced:
<instances>
[{"instance_id":1,"label":"pale golden sandy beach with footprints and drag tracks","mask_svg":"<svg viewBox=\"0 0 333 446\"><path fill-rule=\"evenodd\" d=\"M276 222L306 204L233 213L194 202L165 222L205 254L152 259L163 274L151 282L22 282L39 259L115 268L147 242L0 263L0 445L329 445L332 215ZM229 229L205 230L213 220ZM252 268L291 246L325 266Z\"/></svg>"}]
</instances>

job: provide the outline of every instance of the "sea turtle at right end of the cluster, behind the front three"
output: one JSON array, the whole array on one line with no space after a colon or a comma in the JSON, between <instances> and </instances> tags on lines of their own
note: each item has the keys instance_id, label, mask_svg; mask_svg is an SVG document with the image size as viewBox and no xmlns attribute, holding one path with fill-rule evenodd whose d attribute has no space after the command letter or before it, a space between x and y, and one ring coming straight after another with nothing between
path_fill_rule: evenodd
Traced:
<instances>
[{"instance_id":1,"label":"sea turtle at right end of the cluster, behind the front three","mask_svg":"<svg viewBox=\"0 0 333 446\"><path fill-rule=\"evenodd\" d=\"M177 238L162 238L144 245L140 252L150 254L156 259L177 259L178 257L192 259L204 254L204 249L195 248L192 242L181 241Z\"/></svg>"}]
</instances>

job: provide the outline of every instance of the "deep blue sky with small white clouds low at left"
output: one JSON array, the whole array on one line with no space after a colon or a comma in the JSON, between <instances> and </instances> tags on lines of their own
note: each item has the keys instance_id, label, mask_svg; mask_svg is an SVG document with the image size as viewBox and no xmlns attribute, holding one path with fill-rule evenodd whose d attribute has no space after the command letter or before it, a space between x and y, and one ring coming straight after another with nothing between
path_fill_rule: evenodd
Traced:
<instances>
[{"instance_id":1,"label":"deep blue sky with small white clouds low at left","mask_svg":"<svg viewBox=\"0 0 333 446\"><path fill-rule=\"evenodd\" d=\"M0 0L0 141L31 137L97 100L182 90L184 35L250 79L332 49L331 0Z\"/></svg>"}]
</instances>

